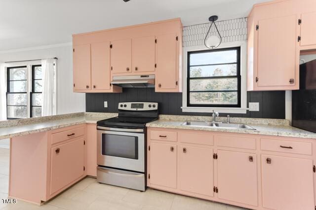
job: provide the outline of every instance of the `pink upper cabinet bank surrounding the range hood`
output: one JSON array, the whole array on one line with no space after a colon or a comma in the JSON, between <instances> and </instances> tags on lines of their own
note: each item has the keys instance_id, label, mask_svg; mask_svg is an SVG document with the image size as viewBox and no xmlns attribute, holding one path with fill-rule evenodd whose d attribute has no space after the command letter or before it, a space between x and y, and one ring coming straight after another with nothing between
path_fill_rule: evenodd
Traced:
<instances>
[{"instance_id":1,"label":"pink upper cabinet bank surrounding the range hood","mask_svg":"<svg viewBox=\"0 0 316 210\"><path fill-rule=\"evenodd\" d=\"M156 92L181 92L179 18L73 35L74 91L121 92L114 76L154 75Z\"/></svg>"}]
</instances>

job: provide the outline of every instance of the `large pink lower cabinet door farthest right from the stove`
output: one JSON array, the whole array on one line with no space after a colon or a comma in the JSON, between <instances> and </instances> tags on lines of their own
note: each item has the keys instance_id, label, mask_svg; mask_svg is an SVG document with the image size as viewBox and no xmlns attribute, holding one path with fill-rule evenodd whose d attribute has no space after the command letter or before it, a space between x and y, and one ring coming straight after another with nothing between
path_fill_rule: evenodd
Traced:
<instances>
[{"instance_id":1,"label":"large pink lower cabinet door farthest right from the stove","mask_svg":"<svg viewBox=\"0 0 316 210\"><path fill-rule=\"evenodd\" d=\"M261 165L264 208L274 210L315 208L312 160L262 155Z\"/></svg>"}]
</instances>

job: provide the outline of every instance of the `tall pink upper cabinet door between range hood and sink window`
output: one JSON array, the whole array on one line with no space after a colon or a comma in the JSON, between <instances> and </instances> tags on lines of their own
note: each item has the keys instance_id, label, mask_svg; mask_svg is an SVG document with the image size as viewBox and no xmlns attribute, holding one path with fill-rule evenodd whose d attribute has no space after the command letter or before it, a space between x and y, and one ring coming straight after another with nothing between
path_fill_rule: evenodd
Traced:
<instances>
[{"instance_id":1,"label":"tall pink upper cabinet door between range hood and sink window","mask_svg":"<svg viewBox=\"0 0 316 210\"><path fill-rule=\"evenodd\" d=\"M157 36L157 68L155 91L164 92L177 89L177 41L175 33Z\"/></svg>"}]
</instances>

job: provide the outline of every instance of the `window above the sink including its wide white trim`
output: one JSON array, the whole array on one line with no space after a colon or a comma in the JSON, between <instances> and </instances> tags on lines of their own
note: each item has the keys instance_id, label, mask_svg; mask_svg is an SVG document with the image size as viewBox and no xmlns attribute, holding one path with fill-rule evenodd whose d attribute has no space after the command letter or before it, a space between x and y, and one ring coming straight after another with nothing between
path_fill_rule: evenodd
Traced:
<instances>
[{"instance_id":1,"label":"window above the sink including its wide white trim","mask_svg":"<svg viewBox=\"0 0 316 210\"><path fill-rule=\"evenodd\" d=\"M183 112L245 114L247 108L246 41L224 42L220 48L185 47Z\"/></svg>"}]
</instances>

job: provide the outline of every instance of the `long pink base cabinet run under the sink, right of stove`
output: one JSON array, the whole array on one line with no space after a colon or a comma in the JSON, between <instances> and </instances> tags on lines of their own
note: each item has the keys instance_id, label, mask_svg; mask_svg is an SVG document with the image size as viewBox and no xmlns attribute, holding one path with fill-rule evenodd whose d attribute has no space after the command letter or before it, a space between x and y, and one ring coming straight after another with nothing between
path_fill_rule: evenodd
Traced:
<instances>
[{"instance_id":1,"label":"long pink base cabinet run under the sink, right of stove","mask_svg":"<svg viewBox=\"0 0 316 210\"><path fill-rule=\"evenodd\" d=\"M147 145L151 188L253 210L315 209L315 139L150 126Z\"/></svg>"}]
</instances>

